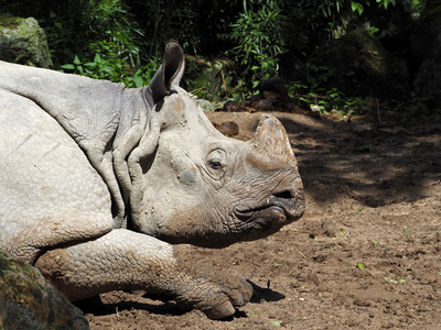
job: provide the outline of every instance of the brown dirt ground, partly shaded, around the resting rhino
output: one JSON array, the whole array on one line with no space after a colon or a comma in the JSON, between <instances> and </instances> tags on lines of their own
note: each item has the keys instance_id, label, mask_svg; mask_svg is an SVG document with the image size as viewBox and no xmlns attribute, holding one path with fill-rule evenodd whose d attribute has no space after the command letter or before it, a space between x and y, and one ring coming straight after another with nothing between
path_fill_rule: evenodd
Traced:
<instances>
[{"instance_id":1,"label":"brown dirt ground, partly shaded, around the resting rhino","mask_svg":"<svg viewBox=\"0 0 441 330\"><path fill-rule=\"evenodd\" d=\"M267 239L190 249L245 275L251 301L224 321L143 293L83 307L92 329L441 329L441 123L377 124L273 113L306 194L302 219ZM249 139L259 113L211 113ZM194 252L196 250L196 252Z\"/></svg>"}]
</instances>

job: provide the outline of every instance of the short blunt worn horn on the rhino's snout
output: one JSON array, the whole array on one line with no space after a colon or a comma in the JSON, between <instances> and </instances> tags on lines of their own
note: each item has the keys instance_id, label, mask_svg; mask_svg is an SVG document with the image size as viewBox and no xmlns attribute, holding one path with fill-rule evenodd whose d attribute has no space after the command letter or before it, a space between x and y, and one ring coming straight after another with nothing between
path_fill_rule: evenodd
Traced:
<instances>
[{"instance_id":1,"label":"short blunt worn horn on the rhino's snout","mask_svg":"<svg viewBox=\"0 0 441 330\"><path fill-rule=\"evenodd\" d=\"M287 132L273 116L262 114L251 142L271 157L297 164Z\"/></svg>"}]
</instances>

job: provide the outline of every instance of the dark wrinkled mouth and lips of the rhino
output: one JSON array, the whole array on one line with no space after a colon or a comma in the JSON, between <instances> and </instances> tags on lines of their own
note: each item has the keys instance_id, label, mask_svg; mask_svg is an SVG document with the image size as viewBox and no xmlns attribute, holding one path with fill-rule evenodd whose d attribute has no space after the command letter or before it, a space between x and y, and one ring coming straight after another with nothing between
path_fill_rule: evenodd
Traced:
<instances>
[{"instance_id":1,"label":"dark wrinkled mouth and lips of the rhino","mask_svg":"<svg viewBox=\"0 0 441 330\"><path fill-rule=\"evenodd\" d=\"M294 197L289 191L270 196L265 204L255 207L236 207L235 215L239 220L237 228L251 233L278 231L281 227L300 219L304 211L302 194Z\"/></svg>"}]
</instances>

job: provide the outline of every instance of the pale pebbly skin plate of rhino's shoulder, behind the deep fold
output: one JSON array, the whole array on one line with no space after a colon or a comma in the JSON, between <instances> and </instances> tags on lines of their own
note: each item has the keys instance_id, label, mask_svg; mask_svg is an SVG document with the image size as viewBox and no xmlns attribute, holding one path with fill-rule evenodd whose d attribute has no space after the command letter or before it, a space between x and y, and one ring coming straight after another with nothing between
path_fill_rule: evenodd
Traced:
<instances>
[{"instance_id":1,"label":"pale pebbly skin plate of rhino's shoulder, behind the deep fold","mask_svg":"<svg viewBox=\"0 0 441 330\"><path fill-rule=\"evenodd\" d=\"M36 103L0 89L0 248L42 250L112 228L110 195L75 141Z\"/></svg>"}]
</instances>

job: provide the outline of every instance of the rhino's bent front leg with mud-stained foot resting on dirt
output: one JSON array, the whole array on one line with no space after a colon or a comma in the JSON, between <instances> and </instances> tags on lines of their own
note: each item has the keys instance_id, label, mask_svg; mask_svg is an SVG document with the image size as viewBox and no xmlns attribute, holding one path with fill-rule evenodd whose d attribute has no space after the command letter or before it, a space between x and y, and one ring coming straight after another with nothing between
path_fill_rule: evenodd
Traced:
<instances>
[{"instance_id":1,"label":"rhino's bent front leg with mud-stained foot resting on dirt","mask_svg":"<svg viewBox=\"0 0 441 330\"><path fill-rule=\"evenodd\" d=\"M245 280L197 268L180 254L179 246L120 229L94 241L47 251L35 266L71 300L114 289L143 289L169 294L179 304L219 319L232 316L234 306L251 298L252 288Z\"/></svg>"}]
</instances>

